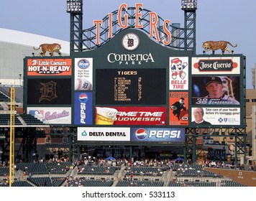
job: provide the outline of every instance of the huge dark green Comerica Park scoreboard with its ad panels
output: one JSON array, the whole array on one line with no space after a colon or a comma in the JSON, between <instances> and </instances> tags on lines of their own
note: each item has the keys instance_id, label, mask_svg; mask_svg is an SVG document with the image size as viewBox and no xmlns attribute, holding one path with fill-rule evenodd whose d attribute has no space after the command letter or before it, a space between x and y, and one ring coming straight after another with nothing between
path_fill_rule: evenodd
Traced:
<instances>
[{"instance_id":1,"label":"huge dark green Comerica Park scoreboard with its ad panels","mask_svg":"<svg viewBox=\"0 0 256 201\"><path fill-rule=\"evenodd\" d=\"M24 108L81 140L183 141L185 128L244 128L244 68L243 55L194 55L125 29L95 50L24 58Z\"/></svg>"}]
</instances>

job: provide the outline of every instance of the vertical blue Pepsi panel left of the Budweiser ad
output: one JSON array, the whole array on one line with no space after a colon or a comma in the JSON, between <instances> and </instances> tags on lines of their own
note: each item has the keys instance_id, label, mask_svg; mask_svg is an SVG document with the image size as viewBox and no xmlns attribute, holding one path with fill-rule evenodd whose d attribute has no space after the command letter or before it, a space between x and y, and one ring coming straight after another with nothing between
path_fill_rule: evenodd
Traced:
<instances>
[{"instance_id":1,"label":"vertical blue Pepsi panel left of the Budweiser ad","mask_svg":"<svg viewBox=\"0 0 256 201\"><path fill-rule=\"evenodd\" d=\"M75 124L92 125L93 123L92 93L75 93Z\"/></svg>"}]
</instances>

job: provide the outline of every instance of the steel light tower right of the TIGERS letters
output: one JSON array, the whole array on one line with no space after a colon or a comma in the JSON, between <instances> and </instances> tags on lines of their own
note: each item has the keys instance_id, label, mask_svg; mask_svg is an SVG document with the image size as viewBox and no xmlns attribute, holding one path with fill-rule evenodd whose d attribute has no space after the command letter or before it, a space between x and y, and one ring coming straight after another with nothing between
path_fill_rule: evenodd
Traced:
<instances>
[{"instance_id":1,"label":"steel light tower right of the TIGERS letters","mask_svg":"<svg viewBox=\"0 0 256 201\"><path fill-rule=\"evenodd\" d=\"M197 0L182 0L181 9L184 11L185 50L191 49L196 53L196 9Z\"/></svg>"}]
</instances>

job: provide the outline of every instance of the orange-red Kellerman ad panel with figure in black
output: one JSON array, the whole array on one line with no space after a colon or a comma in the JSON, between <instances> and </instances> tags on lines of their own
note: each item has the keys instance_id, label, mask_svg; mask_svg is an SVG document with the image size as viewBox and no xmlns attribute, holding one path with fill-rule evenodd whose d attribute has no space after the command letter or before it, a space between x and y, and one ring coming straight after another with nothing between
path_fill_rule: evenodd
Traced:
<instances>
[{"instance_id":1,"label":"orange-red Kellerman ad panel with figure in black","mask_svg":"<svg viewBox=\"0 0 256 201\"><path fill-rule=\"evenodd\" d=\"M188 126L188 92L170 92L169 124Z\"/></svg>"}]
</instances>

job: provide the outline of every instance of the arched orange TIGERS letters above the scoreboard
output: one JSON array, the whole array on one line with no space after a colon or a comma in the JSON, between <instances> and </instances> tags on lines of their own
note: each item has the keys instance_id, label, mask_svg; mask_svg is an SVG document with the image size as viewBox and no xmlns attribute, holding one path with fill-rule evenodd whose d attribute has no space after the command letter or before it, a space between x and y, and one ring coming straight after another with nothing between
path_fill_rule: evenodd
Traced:
<instances>
[{"instance_id":1,"label":"arched orange TIGERS letters above the scoreboard","mask_svg":"<svg viewBox=\"0 0 256 201\"><path fill-rule=\"evenodd\" d=\"M124 17L122 17L122 11L127 10L127 4L122 4L119 6L119 11L118 11L118 23L119 26L122 29L127 29L128 27L128 14L124 14ZM142 29L143 24L140 22L140 19L142 19L142 12L140 10L143 9L143 4L142 3L137 3L135 4L135 29ZM112 35L112 17L113 14L109 13L109 38L113 37ZM157 31L157 23L158 23L158 16L154 11L150 12L150 37L154 37L157 41L160 41L160 36L159 32ZM96 45L100 45L100 26L103 24L102 19L96 19L93 20L93 25L96 25ZM171 34L170 31L168 30L168 26L170 26L170 19L165 19L163 21L163 32L166 34L166 38L163 40L164 45L169 45L171 42Z\"/></svg>"}]
</instances>

